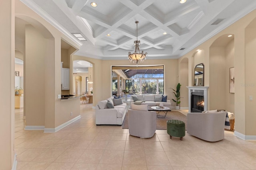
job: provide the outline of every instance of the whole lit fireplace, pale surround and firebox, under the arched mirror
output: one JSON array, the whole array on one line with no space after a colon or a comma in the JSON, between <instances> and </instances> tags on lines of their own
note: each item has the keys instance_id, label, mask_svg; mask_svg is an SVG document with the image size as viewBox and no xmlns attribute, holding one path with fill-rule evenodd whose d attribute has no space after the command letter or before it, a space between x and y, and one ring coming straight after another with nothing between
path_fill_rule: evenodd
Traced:
<instances>
[{"instance_id":1,"label":"whole lit fireplace, pale surround and firebox, under the arched mirror","mask_svg":"<svg viewBox=\"0 0 256 170\"><path fill-rule=\"evenodd\" d=\"M207 110L208 86L193 86L188 88L188 112L202 112Z\"/></svg>"}]
</instances>

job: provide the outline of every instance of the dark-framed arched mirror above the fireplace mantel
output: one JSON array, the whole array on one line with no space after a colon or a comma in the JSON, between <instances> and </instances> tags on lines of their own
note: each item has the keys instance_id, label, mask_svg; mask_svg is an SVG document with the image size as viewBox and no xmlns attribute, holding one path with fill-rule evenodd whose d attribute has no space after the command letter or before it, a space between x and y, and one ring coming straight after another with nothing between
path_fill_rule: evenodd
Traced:
<instances>
[{"instance_id":1,"label":"dark-framed arched mirror above the fireplace mantel","mask_svg":"<svg viewBox=\"0 0 256 170\"><path fill-rule=\"evenodd\" d=\"M194 86L204 86L204 64L197 64L194 71Z\"/></svg>"}]
</instances>

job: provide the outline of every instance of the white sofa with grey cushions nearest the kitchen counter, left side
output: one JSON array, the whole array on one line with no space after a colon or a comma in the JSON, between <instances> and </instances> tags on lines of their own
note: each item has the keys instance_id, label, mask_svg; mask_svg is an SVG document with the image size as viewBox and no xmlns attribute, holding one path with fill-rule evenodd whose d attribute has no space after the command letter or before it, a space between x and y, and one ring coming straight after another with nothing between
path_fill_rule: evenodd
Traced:
<instances>
[{"instance_id":1,"label":"white sofa with grey cushions nearest the kitchen counter, left side","mask_svg":"<svg viewBox=\"0 0 256 170\"><path fill-rule=\"evenodd\" d=\"M114 108L108 108L108 106ZM126 112L126 103L123 103L121 98L110 97L102 100L96 105L96 125L122 125Z\"/></svg>"}]
</instances>

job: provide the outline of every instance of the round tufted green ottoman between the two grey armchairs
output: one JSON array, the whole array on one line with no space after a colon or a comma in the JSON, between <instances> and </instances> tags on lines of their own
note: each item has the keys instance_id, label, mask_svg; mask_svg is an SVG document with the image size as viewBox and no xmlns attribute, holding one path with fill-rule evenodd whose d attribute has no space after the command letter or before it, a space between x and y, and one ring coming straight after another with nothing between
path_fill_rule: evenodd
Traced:
<instances>
[{"instance_id":1,"label":"round tufted green ottoman between the two grey armchairs","mask_svg":"<svg viewBox=\"0 0 256 170\"><path fill-rule=\"evenodd\" d=\"M167 122L167 133L170 135L170 139L172 136L180 137L182 141L182 137L185 136L185 123L180 120L168 120Z\"/></svg>"}]
</instances>

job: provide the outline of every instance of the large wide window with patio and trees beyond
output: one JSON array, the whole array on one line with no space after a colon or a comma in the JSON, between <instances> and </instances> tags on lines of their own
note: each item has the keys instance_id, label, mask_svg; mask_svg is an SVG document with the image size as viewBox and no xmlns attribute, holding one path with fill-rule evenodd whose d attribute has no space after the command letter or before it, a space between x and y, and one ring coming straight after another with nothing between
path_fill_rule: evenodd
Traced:
<instances>
[{"instance_id":1,"label":"large wide window with patio and trees beyond","mask_svg":"<svg viewBox=\"0 0 256 170\"><path fill-rule=\"evenodd\" d=\"M112 66L112 95L117 92L117 76L129 94L164 94L164 66ZM116 80L116 81L115 81ZM114 85L113 82L116 82Z\"/></svg>"}]
</instances>

